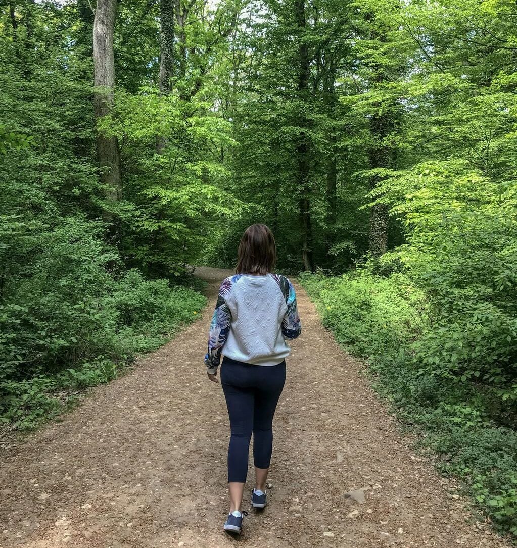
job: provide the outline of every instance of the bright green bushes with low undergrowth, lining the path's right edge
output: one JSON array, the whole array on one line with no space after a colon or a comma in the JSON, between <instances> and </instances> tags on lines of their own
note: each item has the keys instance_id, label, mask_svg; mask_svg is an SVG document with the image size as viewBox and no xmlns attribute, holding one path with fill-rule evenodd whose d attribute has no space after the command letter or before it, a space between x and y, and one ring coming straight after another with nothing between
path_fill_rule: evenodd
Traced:
<instances>
[{"instance_id":1,"label":"bright green bushes with low undergrowth, lining the path's right edge","mask_svg":"<svg viewBox=\"0 0 517 548\"><path fill-rule=\"evenodd\" d=\"M300 281L440 469L517 535L517 185L449 159L392 172L374 197L406 243Z\"/></svg>"}]
</instances>

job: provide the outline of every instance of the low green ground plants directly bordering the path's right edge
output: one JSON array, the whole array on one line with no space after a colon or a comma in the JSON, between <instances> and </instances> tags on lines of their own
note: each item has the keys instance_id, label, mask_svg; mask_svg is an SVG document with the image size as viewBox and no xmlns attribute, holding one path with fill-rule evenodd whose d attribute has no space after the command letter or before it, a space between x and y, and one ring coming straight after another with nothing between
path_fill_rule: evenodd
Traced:
<instances>
[{"instance_id":1,"label":"low green ground plants directly bordering the path's right edge","mask_svg":"<svg viewBox=\"0 0 517 548\"><path fill-rule=\"evenodd\" d=\"M445 323L430 293L407 274L382 278L367 269L298 279L338 343L368 359L374 388L423 434L422 449L440 456L439 469L462 478L475 503L517 534L517 432L501 425L514 415L475 375L451 382L429 370L422 349L431 335L444 337L437 326Z\"/></svg>"}]
</instances>

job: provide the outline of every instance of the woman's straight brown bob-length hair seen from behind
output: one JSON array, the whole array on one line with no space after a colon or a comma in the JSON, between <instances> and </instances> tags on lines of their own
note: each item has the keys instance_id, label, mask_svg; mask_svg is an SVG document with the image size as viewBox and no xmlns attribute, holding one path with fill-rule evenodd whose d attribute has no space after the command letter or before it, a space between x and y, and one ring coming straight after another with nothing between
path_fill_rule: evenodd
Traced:
<instances>
[{"instance_id":1,"label":"woman's straight brown bob-length hair seen from behind","mask_svg":"<svg viewBox=\"0 0 517 548\"><path fill-rule=\"evenodd\" d=\"M237 274L267 274L276 264L276 243L268 226L248 226L237 251Z\"/></svg>"}]
</instances>

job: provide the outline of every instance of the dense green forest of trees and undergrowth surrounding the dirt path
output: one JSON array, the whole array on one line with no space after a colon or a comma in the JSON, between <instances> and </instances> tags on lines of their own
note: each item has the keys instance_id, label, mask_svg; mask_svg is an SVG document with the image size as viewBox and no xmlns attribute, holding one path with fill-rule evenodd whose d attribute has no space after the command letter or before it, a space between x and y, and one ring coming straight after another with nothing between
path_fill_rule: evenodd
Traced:
<instances>
[{"instance_id":1,"label":"dense green forest of trees and undergrowth surrounding the dirt path","mask_svg":"<svg viewBox=\"0 0 517 548\"><path fill-rule=\"evenodd\" d=\"M194 321L192 265L264 222L517 535L516 28L509 0L3 2L0 426Z\"/></svg>"}]
</instances>

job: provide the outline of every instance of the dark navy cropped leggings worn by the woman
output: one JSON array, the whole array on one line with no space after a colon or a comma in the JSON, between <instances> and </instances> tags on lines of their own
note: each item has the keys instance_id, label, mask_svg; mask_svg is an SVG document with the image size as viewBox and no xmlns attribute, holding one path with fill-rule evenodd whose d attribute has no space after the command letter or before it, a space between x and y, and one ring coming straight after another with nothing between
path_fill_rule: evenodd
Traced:
<instances>
[{"instance_id":1,"label":"dark navy cropped leggings worn by the woman","mask_svg":"<svg viewBox=\"0 0 517 548\"><path fill-rule=\"evenodd\" d=\"M254 464L257 468L269 468L273 450L271 425L285 381L285 360L276 366L254 366L224 356L221 384L230 417L229 482L246 483L252 432Z\"/></svg>"}]
</instances>

